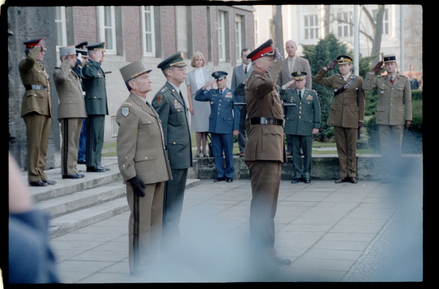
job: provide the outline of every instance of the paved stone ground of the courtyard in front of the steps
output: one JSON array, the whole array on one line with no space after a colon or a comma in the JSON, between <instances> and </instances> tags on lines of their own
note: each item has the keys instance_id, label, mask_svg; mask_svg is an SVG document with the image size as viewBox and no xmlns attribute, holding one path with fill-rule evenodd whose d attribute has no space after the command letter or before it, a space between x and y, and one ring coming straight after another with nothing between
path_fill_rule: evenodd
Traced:
<instances>
[{"instance_id":1,"label":"paved stone ground of the courtyard in front of the steps","mask_svg":"<svg viewBox=\"0 0 439 289\"><path fill-rule=\"evenodd\" d=\"M293 263L272 275L248 258L249 180L187 189L180 246L142 278L129 274L129 212L50 243L64 283L422 281L421 182L282 180L275 247Z\"/></svg>"}]
</instances>

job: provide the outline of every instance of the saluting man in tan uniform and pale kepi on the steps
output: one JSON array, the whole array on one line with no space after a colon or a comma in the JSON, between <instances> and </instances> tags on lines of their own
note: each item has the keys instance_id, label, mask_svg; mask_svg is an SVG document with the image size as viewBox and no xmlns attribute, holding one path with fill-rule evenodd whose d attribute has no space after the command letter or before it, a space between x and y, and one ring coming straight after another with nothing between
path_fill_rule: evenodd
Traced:
<instances>
[{"instance_id":1,"label":"saluting man in tan uniform and pale kepi on the steps","mask_svg":"<svg viewBox=\"0 0 439 289\"><path fill-rule=\"evenodd\" d=\"M61 65L55 67L54 81L62 134L61 175L63 179L78 179L85 176L76 169L83 117L87 117L84 93L79 76L72 70L76 64L75 46L61 47L59 54Z\"/></svg>"}]
</instances>

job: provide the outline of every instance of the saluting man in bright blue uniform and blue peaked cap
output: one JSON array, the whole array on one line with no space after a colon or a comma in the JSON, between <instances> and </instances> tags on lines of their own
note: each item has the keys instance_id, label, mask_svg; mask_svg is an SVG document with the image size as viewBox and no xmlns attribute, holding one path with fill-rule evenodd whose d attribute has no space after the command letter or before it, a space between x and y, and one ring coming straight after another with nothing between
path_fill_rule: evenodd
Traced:
<instances>
[{"instance_id":1,"label":"saluting man in bright blue uniform and blue peaked cap","mask_svg":"<svg viewBox=\"0 0 439 289\"><path fill-rule=\"evenodd\" d=\"M233 137L239 133L240 109L234 106L239 102L233 90L227 88L227 72L215 71L212 77L216 79L218 89L205 89L215 81L208 81L198 89L195 100L210 102L209 132L212 134L213 160L216 166L214 182L226 180L233 182L235 168L233 164ZM232 113L233 112L233 113ZM224 170L223 151L226 159Z\"/></svg>"}]
</instances>

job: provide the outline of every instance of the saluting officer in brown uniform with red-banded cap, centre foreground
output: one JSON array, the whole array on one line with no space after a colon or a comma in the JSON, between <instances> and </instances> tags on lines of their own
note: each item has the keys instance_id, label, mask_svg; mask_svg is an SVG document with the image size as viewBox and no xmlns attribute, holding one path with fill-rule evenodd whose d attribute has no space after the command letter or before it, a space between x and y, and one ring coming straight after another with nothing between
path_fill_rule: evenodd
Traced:
<instances>
[{"instance_id":1,"label":"saluting officer in brown uniform with red-banded cap, centre foreground","mask_svg":"<svg viewBox=\"0 0 439 289\"><path fill-rule=\"evenodd\" d=\"M281 181L281 164L285 162L284 111L276 78L284 63L269 39L248 54L253 72L245 88L245 102L250 130L244 161L252 182L250 236L258 261L288 265L291 260L279 257L274 249L274 215Z\"/></svg>"}]
</instances>

